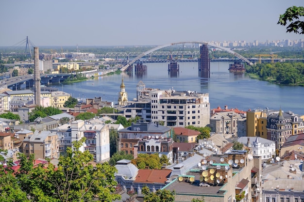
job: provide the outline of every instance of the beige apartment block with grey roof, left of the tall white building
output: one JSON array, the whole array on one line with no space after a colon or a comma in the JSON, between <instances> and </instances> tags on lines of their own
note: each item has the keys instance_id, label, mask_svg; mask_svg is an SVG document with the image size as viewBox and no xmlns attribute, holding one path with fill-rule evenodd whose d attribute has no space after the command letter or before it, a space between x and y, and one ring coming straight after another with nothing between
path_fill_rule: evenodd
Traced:
<instances>
[{"instance_id":1,"label":"beige apartment block with grey roof, left of the tall white building","mask_svg":"<svg viewBox=\"0 0 304 202\"><path fill-rule=\"evenodd\" d=\"M26 156L34 154L35 159L59 157L59 140L56 133L36 130L33 135L29 135L22 141L22 152Z\"/></svg>"}]
</instances>

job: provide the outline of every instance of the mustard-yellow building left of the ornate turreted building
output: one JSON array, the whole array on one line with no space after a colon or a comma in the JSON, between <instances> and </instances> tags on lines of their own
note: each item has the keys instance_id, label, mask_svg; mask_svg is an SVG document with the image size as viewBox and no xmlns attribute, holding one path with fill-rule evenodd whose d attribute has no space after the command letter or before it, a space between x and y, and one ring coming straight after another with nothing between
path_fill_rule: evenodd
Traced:
<instances>
[{"instance_id":1,"label":"mustard-yellow building left of the ornate turreted building","mask_svg":"<svg viewBox=\"0 0 304 202\"><path fill-rule=\"evenodd\" d=\"M247 136L267 139L267 111L255 109L247 111L246 116Z\"/></svg>"}]
</instances>

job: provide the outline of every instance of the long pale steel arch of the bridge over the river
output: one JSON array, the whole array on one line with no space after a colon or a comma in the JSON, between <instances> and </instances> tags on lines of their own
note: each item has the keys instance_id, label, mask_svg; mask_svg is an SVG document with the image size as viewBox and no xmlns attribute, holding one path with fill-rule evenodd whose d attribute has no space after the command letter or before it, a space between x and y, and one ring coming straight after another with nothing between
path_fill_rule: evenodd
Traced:
<instances>
[{"instance_id":1,"label":"long pale steel arch of the bridge over the river","mask_svg":"<svg viewBox=\"0 0 304 202\"><path fill-rule=\"evenodd\" d=\"M171 43L171 44L165 44L165 45L161 45L158 47L154 47L146 52L141 53L140 55L138 55L136 58L134 58L131 62L129 62L128 64L126 64L125 66L123 66L120 70L121 71L125 71L131 64L133 64L135 61L137 61L138 59L144 57L145 55L148 55L149 53L152 53L155 50L159 50L161 48L164 47L169 47L169 46L174 46L174 45L179 45L179 44L205 44L207 46L211 46L211 47L217 47L220 48L224 51L227 51L228 53L233 54L234 56L236 56L237 58L247 62L249 65L253 65L252 62L250 62L249 60L247 60L246 58L244 58L243 56L241 56L240 54L230 50L229 48L225 48L225 47L221 47L212 43L208 43L208 42L203 42L203 41L186 41L186 42L176 42L176 43Z\"/></svg>"}]
</instances>

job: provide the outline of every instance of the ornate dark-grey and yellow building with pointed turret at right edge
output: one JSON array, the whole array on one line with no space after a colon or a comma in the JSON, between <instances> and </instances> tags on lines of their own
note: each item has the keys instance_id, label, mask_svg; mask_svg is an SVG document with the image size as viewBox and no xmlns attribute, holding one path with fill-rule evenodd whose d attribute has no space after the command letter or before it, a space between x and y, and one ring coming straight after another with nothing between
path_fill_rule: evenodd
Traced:
<instances>
[{"instance_id":1,"label":"ornate dark-grey and yellow building with pointed turret at right edge","mask_svg":"<svg viewBox=\"0 0 304 202\"><path fill-rule=\"evenodd\" d=\"M303 120L291 111L285 113L280 109L279 113L269 115L267 120L268 139L275 142L278 150L290 136L303 133Z\"/></svg>"}]
</instances>

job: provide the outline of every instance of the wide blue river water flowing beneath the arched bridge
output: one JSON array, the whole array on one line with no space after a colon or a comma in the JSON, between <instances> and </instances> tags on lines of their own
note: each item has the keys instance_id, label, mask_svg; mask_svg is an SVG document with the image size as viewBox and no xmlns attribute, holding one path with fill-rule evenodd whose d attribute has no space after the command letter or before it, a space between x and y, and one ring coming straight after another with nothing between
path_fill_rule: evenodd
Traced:
<instances>
[{"instance_id":1,"label":"wide blue river water flowing beneath the arched bridge","mask_svg":"<svg viewBox=\"0 0 304 202\"><path fill-rule=\"evenodd\" d=\"M209 93L210 109L225 105L228 108L282 109L296 114L304 114L304 87L273 84L249 76L228 71L230 62L211 62L210 78L198 77L197 62L179 62L177 75L168 74L168 63L146 63L146 75L103 76L72 84L51 84L76 98L102 97L103 100L117 103L121 78L124 79L128 99L136 97L136 85L141 80L146 88L177 91L197 91Z\"/></svg>"}]
</instances>

